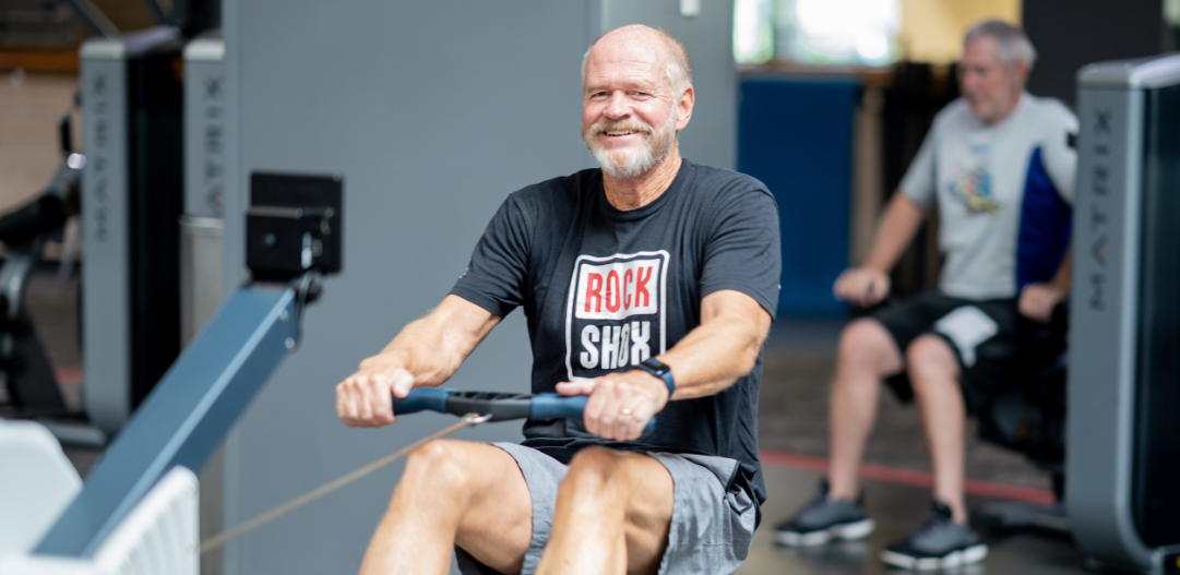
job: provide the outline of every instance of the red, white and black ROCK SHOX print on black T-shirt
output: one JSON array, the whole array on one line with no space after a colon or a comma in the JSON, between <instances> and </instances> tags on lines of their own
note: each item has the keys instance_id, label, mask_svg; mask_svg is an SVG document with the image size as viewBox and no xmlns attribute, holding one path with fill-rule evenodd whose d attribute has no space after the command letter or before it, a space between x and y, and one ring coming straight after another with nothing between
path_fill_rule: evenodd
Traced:
<instances>
[{"instance_id":1,"label":"red, white and black ROCK SHOX print on black T-shirt","mask_svg":"<svg viewBox=\"0 0 1180 575\"><path fill-rule=\"evenodd\" d=\"M599 377L667 351L668 252L578 256L565 311L570 381Z\"/></svg>"}]
</instances>

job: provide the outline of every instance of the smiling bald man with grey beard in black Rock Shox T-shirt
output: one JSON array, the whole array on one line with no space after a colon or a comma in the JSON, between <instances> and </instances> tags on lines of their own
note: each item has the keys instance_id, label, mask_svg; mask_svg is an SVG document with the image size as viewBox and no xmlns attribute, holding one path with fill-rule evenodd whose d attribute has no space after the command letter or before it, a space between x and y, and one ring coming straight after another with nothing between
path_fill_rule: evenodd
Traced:
<instances>
[{"instance_id":1,"label":"smiling bald man with grey beard in black Rock Shox T-shirt","mask_svg":"<svg viewBox=\"0 0 1180 575\"><path fill-rule=\"evenodd\" d=\"M761 345L778 302L778 210L760 181L680 157L695 93L683 46L644 26L582 65L582 139L601 168L504 201L430 315L336 386L352 427L447 381L524 308L532 391L589 396L520 444L414 451L362 574L732 573L766 498ZM655 430L642 435L658 414Z\"/></svg>"}]
</instances>

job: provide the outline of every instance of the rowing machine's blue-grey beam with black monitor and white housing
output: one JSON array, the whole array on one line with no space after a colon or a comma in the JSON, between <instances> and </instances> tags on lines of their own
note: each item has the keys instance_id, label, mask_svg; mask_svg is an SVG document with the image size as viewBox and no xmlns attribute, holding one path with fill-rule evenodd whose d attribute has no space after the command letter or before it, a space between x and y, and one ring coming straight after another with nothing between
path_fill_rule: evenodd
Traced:
<instances>
[{"instance_id":1,"label":"rowing machine's blue-grey beam with black monitor and white housing","mask_svg":"<svg viewBox=\"0 0 1180 575\"><path fill-rule=\"evenodd\" d=\"M80 490L47 434L27 428L35 424L0 427L5 461L24 463L0 469L0 497L44 503L0 517L0 534L22 530L18 544L0 546L0 574L196 575L194 474L295 349L321 278L340 272L341 196L339 176L251 177L250 279L149 394Z\"/></svg>"}]
</instances>

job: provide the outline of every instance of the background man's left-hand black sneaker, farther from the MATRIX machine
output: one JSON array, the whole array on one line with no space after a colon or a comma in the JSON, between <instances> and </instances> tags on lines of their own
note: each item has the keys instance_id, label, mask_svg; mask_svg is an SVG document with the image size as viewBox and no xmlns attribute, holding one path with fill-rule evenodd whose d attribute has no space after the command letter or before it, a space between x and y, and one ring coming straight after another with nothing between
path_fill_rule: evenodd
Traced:
<instances>
[{"instance_id":1,"label":"background man's left-hand black sneaker, farther from the MATRIX machine","mask_svg":"<svg viewBox=\"0 0 1180 575\"><path fill-rule=\"evenodd\" d=\"M774 527L774 541L791 547L821 546L832 540L861 538L873 533L873 527L861 502L828 498L824 481L814 501Z\"/></svg>"}]
</instances>

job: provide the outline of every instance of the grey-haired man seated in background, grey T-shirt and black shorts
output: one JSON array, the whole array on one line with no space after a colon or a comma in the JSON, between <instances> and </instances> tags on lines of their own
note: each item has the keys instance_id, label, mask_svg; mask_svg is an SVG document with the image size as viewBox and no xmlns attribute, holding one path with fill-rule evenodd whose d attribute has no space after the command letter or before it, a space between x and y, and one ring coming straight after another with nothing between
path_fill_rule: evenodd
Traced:
<instances>
[{"instance_id":1,"label":"grey-haired man seated in background, grey T-shirt and black shorts","mask_svg":"<svg viewBox=\"0 0 1180 575\"><path fill-rule=\"evenodd\" d=\"M988 548L966 524L964 423L1011 377L1021 315L1048 322L1069 289L1070 206L1077 119L1061 103L1024 92L1035 51L1001 21L972 27L959 62L962 98L935 118L890 200L861 267L835 282L858 306L889 295L889 271L933 204L944 265L937 291L883 306L845 328L830 405L831 463L815 501L776 527L788 546L859 538L873 529L857 475L890 379L918 399L933 468L925 522L881 559L902 568L982 560Z\"/></svg>"}]
</instances>

